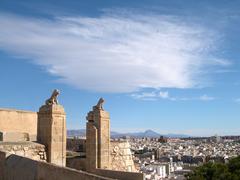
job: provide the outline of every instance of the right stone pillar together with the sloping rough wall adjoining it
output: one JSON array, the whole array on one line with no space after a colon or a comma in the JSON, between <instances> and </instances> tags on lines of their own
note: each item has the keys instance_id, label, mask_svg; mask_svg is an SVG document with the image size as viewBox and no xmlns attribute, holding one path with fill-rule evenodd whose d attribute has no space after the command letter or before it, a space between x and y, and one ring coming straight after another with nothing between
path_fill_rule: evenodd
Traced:
<instances>
[{"instance_id":1,"label":"right stone pillar together with the sloping rough wall adjoining it","mask_svg":"<svg viewBox=\"0 0 240 180\"><path fill-rule=\"evenodd\" d=\"M128 142L110 143L110 117L102 105L93 106L86 117L86 168L136 172L130 144Z\"/></svg>"}]
</instances>

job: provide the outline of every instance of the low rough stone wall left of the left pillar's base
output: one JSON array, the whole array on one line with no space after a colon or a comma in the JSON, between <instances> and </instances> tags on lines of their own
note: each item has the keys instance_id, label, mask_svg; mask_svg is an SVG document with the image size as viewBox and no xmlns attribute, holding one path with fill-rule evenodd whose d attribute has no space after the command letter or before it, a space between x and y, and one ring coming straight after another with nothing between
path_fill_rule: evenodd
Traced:
<instances>
[{"instance_id":1,"label":"low rough stone wall left of the left pillar's base","mask_svg":"<svg viewBox=\"0 0 240 180\"><path fill-rule=\"evenodd\" d=\"M45 146L34 142L0 142L0 151L46 161Z\"/></svg>"}]
</instances>

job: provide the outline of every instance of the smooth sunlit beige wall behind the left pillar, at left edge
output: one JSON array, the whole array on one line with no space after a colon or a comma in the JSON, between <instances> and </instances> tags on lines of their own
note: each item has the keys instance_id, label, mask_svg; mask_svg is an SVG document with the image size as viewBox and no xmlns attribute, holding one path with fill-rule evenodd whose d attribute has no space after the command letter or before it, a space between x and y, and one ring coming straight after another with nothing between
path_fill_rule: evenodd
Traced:
<instances>
[{"instance_id":1,"label":"smooth sunlit beige wall behind the left pillar, at left edge","mask_svg":"<svg viewBox=\"0 0 240 180\"><path fill-rule=\"evenodd\" d=\"M0 131L28 133L29 140L37 136L37 113L31 111L0 109Z\"/></svg>"}]
</instances>

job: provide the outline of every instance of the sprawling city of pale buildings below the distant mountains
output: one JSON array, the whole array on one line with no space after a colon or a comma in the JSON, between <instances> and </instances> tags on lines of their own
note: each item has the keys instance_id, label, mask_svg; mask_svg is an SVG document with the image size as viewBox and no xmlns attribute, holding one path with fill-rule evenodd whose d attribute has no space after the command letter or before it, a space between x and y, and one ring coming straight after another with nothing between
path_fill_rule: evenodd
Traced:
<instances>
[{"instance_id":1,"label":"sprawling city of pale buildings below the distant mountains","mask_svg":"<svg viewBox=\"0 0 240 180\"><path fill-rule=\"evenodd\" d=\"M150 130L148 130L150 131ZM76 141L74 150L84 154L81 146L85 134L69 131L68 141ZM118 136L112 141L128 142L136 169L145 174L145 179L185 179L185 175L207 162L226 163L240 154L240 136L212 137L156 137ZM78 136L79 135L79 136ZM80 149L78 149L80 147Z\"/></svg>"}]
</instances>

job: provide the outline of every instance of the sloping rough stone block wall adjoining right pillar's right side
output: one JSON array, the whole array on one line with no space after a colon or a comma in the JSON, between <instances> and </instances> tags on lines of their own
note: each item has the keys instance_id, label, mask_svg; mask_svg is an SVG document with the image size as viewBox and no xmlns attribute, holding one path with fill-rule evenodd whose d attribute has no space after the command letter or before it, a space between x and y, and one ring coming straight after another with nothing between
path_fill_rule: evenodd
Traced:
<instances>
[{"instance_id":1,"label":"sloping rough stone block wall adjoining right pillar's right side","mask_svg":"<svg viewBox=\"0 0 240 180\"><path fill-rule=\"evenodd\" d=\"M136 172L128 142L112 141L110 146L110 165L112 170Z\"/></svg>"}]
</instances>

